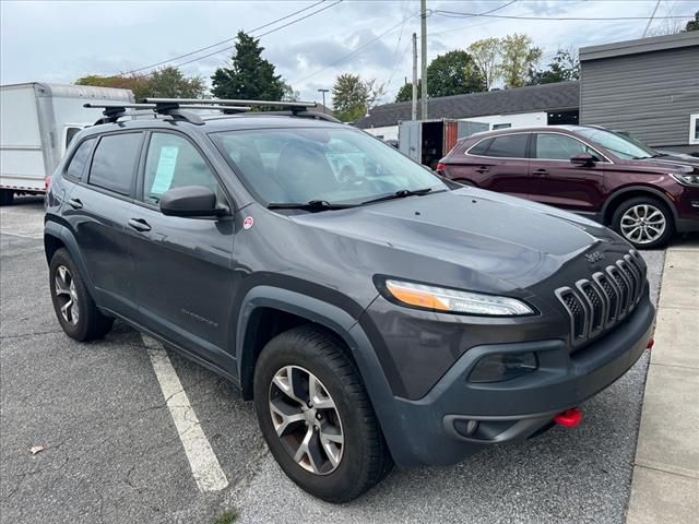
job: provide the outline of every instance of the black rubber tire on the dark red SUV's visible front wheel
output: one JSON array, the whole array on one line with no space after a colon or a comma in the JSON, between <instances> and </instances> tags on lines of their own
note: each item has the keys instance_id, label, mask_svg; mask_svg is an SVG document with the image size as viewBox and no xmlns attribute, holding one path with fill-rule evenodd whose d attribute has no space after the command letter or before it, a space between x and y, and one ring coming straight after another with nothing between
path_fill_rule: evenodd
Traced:
<instances>
[{"instance_id":1,"label":"black rubber tire on the dark red SUV's visible front wheel","mask_svg":"<svg viewBox=\"0 0 699 524\"><path fill-rule=\"evenodd\" d=\"M629 230L628 224L632 219L632 216L639 216L639 214L635 214L633 210L642 210L647 209L645 216L654 215L657 219L662 215L662 221L664 221L664 228L662 233L657 235L655 238L648 237L649 234L654 234L654 229L651 230L651 222L648 221L647 224L647 233L643 233L642 229L637 229L636 233ZM660 213L660 215L657 214ZM624 227L621 221L624 219ZM657 224L657 223L655 223ZM641 226L642 227L642 226ZM656 225L653 227L657 227ZM664 248L670 239L673 237L675 233L675 221L673 218L673 213L665 205L664 202L661 202L653 196L636 196L633 199L629 199L619 205L614 215L612 216L612 228L618 233L625 240L632 243L637 249L660 249ZM640 237L639 237L640 235Z\"/></svg>"}]
</instances>

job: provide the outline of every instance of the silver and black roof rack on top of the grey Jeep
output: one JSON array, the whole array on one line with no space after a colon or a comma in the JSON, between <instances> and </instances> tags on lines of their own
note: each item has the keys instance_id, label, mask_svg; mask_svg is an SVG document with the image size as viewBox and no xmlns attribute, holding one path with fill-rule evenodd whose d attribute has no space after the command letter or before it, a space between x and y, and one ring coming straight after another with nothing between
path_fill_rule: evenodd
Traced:
<instances>
[{"instance_id":1,"label":"silver and black roof rack on top of the grey Jeep","mask_svg":"<svg viewBox=\"0 0 699 524\"><path fill-rule=\"evenodd\" d=\"M337 122L335 118L323 112L309 111L311 107L317 107L315 102L280 102L280 100L233 100L217 98L144 98L139 104L85 104L83 107L104 109L104 118L95 122L110 123L126 116L149 115L153 111L157 115L167 115L174 119L185 120L190 123L204 123L203 119L187 109L213 109L224 114L247 112L253 107L264 107L273 110L264 111L268 115L286 115L293 117L315 118ZM128 111L134 109L134 111Z\"/></svg>"}]
</instances>

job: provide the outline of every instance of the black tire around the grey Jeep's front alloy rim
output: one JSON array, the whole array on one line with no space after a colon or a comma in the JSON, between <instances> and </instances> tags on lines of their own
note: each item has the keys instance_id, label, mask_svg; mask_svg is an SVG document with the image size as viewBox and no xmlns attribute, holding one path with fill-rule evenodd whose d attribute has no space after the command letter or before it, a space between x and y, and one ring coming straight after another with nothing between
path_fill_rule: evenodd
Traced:
<instances>
[{"instance_id":1,"label":"black tire around the grey Jeep's front alloy rim","mask_svg":"<svg viewBox=\"0 0 699 524\"><path fill-rule=\"evenodd\" d=\"M359 373L341 344L334 335L318 327L295 327L269 342L254 369L256 412L272 455L301 489L335 503L359 497L381 481L393 466ZM330 473L312 473L301 467L289 446L277 437L270 398L275 374L287 366L312 373L334 402L344 441L339 463ZM300 432L313 430L305 421L295 424Z\"/></svg>"}]
</instances>

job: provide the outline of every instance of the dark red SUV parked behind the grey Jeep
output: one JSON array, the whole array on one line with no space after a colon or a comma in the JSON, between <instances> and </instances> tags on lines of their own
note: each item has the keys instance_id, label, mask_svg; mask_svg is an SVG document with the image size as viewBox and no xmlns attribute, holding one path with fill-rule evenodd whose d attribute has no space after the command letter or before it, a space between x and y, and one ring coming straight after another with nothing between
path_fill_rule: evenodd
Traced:
<instances>
[{"instance_id":1,"label":"dark red SUV parked behind the grey Jeep","mask_svg":"<svg viewBox=\"0 0 699 524\"><path fill-rule=\"evenodd\" d=\"M437 171L451 180L587 215L637 248L699 231L699 158L668 156L593 126L548 126L463 139Z\"/></svg>"}]
</instances>

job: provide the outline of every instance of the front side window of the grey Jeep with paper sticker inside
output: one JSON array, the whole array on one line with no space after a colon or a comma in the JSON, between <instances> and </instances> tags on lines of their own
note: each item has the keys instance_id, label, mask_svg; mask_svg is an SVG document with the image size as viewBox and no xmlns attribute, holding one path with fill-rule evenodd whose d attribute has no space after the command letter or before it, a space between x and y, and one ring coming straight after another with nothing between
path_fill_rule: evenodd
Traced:
<instances>
[{"instance_id":1,"label":"front side window of the grey Jeep with paper sticker inside","mask_svg":"<svg viewBox=\"0 0 699 524\"><path fill-rule=\"evenodd\" d=\"M164 192L183 186L204 186L222 194L216 177L188 140L154 132L145 160L143 200L156 204Z\"/></svg>"}]
</instances>

